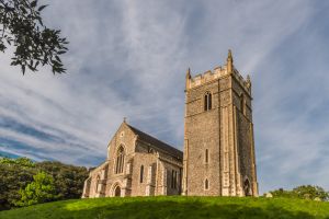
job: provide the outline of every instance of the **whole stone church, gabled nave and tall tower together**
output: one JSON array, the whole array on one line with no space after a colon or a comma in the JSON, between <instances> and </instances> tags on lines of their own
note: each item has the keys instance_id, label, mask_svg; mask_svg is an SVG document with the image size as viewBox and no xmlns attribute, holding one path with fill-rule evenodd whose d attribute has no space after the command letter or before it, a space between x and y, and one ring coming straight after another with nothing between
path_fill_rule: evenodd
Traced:
<instances>
[{"instance_id":1,"label":"whole stone church, gabled nave and tall tower together","mask_svg":"<svg viewBox=\"0 0 329 219\"><path fill-rule=\"evenodd\" d=\"M124 122L82 198L258 196L251 81L226 65L185 77L184 151Z\"/></svg>"}]
</instances>

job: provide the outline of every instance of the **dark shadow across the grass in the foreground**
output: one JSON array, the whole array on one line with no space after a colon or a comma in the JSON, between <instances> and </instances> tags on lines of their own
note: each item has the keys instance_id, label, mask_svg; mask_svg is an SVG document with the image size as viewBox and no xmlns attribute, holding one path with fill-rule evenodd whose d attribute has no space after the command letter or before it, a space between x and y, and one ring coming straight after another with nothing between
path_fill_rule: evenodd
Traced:
<instances>
[{"instance_id":1,"label":"dark shadow across the grass in the foreground","mask_svg":"<svg viewBox=\"0 0 329 219\"><path fill-rule=\"evenodd\" d=\"M135 200L121 205L95 207L88 210L70 210L63 218L223 218L223 219L313 219L314 216L303 212L286 210L279 207L248 207L234 204L212 205L201 201L177 203L177 201L144 201ZM66 217L71 216L71 217Z\"/></svg>"}]
</instances>

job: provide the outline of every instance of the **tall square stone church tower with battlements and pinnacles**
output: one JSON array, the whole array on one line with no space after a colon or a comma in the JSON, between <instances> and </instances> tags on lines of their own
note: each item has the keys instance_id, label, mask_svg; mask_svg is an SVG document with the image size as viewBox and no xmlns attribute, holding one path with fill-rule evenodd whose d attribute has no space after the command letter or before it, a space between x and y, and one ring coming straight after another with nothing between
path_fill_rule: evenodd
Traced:
<instances>
[{"instance_id":1,"label":"tall square stone church tower with battlements and pinnacles","mask_svg":"<svg viewBox=\"0 0 329 219\"><path fill-rule=\"evenodd\" d=\"M183 195L258 196L251 81L234 67L186 72Z\"/></svg>"}]
</instances>

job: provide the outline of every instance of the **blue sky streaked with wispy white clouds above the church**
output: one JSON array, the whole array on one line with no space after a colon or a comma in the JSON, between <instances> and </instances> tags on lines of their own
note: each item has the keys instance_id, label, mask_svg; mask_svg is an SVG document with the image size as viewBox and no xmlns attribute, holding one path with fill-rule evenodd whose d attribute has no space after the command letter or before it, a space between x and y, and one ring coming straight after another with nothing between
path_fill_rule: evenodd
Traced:
<instances>
[{"instance_id":1,"label":"blue sky streaked with wispy white clouds above the church","mask_svg":"<svg viewBox=\"0 0 329 219\"><path fill-rule=\"evenodd\" d=\"M183 149L186 69L249 73L260 193L329 189L329 1L56 0L67 73L0 54L0 153L94 166L124 117Z\"/></svg>"}]
</instances>

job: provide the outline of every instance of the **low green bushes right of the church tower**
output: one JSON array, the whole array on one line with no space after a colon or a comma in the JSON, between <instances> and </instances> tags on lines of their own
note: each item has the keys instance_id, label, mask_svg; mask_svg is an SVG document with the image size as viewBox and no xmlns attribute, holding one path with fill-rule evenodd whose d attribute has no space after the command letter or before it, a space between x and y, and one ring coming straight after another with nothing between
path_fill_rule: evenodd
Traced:
<instances>
[{"instance_id":1,"label":"low green bushes right of the church tower","mask_svg":"<svg viewBox=\"0 0 329 219\"><path fill-rule=\"evenodd\" d=\"M285 198L302 198L302 199L315 199L320 198L321 200L329 199L329 193L326 192L322 187L313 186L313 185L300 185L292 191L284 191L279 188L276 191L270 192L273 197L285 197Z\"/></svg>"}]
</instances>

